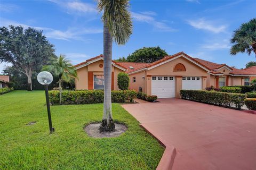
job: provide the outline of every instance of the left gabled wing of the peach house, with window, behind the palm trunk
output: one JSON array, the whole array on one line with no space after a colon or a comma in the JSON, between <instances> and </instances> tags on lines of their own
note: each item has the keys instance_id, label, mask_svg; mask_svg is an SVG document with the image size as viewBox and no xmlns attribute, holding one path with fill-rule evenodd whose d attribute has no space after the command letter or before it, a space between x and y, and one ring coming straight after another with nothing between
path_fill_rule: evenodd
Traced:
<instances>
[{"instance_id":1,"label":"left gabled wing of the peach house, with window, behind the palm trunk","mask_svg":"<svg viewBox=\"0 0 256 170\"><path fill-rule=\"evenodd\" d=\"M75 65L78 79L75 80L76 89L103 89L103 55L93 57L83 63ZM117 86L117 75L120 72L125 72L125 66L112 61L112 90L119 90Z\"/></svg>"}]
</instances>

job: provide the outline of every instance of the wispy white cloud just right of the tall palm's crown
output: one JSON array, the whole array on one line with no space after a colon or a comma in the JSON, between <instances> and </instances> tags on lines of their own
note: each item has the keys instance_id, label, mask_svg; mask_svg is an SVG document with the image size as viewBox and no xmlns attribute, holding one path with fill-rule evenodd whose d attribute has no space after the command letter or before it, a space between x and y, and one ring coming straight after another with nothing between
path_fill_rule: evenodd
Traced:
<instances>
[{"instance_id":1,"label":"wispy white cloud just right of the tall palm's crown","mask_svg":"<svg viewBox=\"0 0 256 170\"><path fill-rule=\"evenodd\" d=\"M156 19L152 16L152 12L150 14L149 14L149 12L146 12L146 13L147 14L145 14L145 12L141 12L141 13L132 12L132 18L135 21L146 22L148 24L151 24L158 31L177 31L177 30L169 27L164 22L156 21Z\"/></svg>"}]
</instances>

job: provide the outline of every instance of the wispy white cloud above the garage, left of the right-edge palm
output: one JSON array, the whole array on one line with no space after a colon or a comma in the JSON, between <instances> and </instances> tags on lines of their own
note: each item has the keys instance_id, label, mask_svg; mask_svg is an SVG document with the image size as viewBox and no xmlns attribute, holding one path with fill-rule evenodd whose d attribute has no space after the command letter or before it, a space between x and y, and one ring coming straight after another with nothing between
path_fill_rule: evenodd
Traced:
<instances>
[{"instance_id":1,"label":"wispy white cloud above the garage, left of the right-edge palm","mask_svg":"<svg viewBox=\"0 0 256 170\"><path fill-rule=\"evenodd\" d=\"M226 25L215 25L214 22L206 21L203 18L198 20L189 20L188 24L196 29L203 29L203 30L211 31L213 33L225 32L227 29Z\"/></svg>"}]
</instances>

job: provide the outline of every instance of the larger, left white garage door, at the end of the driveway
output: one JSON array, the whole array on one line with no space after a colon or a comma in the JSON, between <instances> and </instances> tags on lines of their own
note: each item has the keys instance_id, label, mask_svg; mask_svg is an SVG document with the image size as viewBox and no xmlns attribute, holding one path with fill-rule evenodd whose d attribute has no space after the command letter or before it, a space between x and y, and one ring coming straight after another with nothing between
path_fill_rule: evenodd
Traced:
<instances>
[{"instance_id":1,"label":"larger, left white garage door, at the end of the driveway","mask_svg":"<svg viewBox=\"0 0 256 170\"><path fill-rule=\"evenodd\" d=\"M175 97L175 77L153 76L151 94L158 98Z\"/></svg>"}]
</instances>

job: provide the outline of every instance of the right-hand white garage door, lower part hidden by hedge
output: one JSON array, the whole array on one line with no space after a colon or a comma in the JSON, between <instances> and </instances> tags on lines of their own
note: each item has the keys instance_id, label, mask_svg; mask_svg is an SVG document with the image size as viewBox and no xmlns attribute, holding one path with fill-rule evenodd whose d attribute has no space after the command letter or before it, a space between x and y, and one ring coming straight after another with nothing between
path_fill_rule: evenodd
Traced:
<instances>
[{"instance_id":1,"label":"right-hand white garage door, lower part hidden by hedge","mask_svg":"<svg viewBox=\"0 0 256 170\"><path fill-rule=\"evenodd\" d=\"M202 77L182 77L183 90L202 90Z\"/></svg>"}]
</instances>

